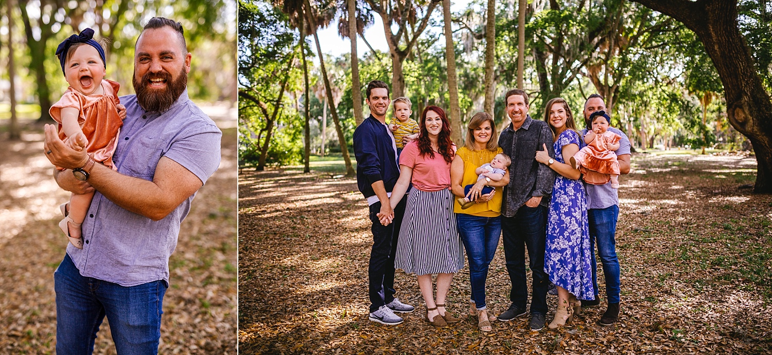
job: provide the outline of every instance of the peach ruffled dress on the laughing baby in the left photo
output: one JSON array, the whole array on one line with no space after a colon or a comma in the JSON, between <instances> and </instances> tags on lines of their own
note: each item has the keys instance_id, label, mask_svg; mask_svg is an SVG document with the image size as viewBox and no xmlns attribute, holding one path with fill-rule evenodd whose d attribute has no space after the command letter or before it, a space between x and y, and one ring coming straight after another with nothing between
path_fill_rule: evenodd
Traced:
<instances>
[{"instance_id":1,"label":"peach ruffled dress on the laughing baby in the left photo","mask_svg":"<svg viewBox=\"0 0 772 355\"><path fill-rule=\"evenodd\" d=\"M80 111L78 123L86 139L89 140L86 146L88 152L94 160L101 162L110 169L117 170L113 164L113 152L118 144L118 134L120 127L124 122L118 116L116 105L118 100L118 90L120 84L111 80L103 79L103 95L83 95L72 87L62 95L62 99L51 106L49 113L51 117L59 123L59 139L67 142L67 136L62 129L62 109L74 107ZM57 167L57 169L61 169Z\"/></svg>"}]
</instances>

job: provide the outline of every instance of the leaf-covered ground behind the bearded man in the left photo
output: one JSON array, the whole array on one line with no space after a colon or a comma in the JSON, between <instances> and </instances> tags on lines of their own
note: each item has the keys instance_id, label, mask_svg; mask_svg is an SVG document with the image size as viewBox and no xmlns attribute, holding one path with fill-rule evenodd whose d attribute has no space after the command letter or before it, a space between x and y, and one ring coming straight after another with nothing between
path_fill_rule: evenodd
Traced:
<instances>
[{"instance_id":1,"label":"leaf-covered ground behind the bearded man in the left photo","mask_svg":"<svg viewBox=\"0 0 772 355\"><path fill-rule=\"evenodd\" d=\"M222 163L195 197L169 262L161 353L236 353L236 132L222 131ZM0 353L55 353L53 272L68 243L58 206L69 193L53 181L42 139L29 125L21 141L0 140ZM94 353L115 353L107 319Z\"/></svg>"}]
</instances>

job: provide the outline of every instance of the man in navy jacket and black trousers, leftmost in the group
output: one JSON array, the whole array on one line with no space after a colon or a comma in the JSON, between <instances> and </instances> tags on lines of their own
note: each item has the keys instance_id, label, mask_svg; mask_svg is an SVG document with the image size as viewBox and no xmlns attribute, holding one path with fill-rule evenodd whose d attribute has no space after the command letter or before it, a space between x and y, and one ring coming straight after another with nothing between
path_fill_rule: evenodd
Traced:
<instances>
[{"instance_id":1,"label":"man in navy jacket and black trousers, leftmost in the group","mask_svg":"<svg viewBox=\"0 0 772 355\"><path fill-rule=\"evenodd\" d=\"M391 189L399 178L397 146L386 126L386 111L391 102L385 82L374 80L367 84L367 105L370 116L354 131L354 156L357 158L357 186L367 205L373 232L373 248L367 273L370 278L370 320L386 325L402 323L394 314L411 313L415 308L394 298L394 255L397 237L405 214L405 202L391 209ZM408 189L409 191L409 189ZM381 218L391 220L388 226Z\"/></svg>"}]
</instances>

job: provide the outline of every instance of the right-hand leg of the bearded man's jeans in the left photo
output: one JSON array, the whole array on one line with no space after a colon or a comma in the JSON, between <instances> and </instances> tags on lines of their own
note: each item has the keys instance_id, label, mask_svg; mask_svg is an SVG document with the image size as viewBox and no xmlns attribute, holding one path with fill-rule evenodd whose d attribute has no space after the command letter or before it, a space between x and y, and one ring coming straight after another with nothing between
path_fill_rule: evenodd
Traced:
<instances>
[{"instance_id":1,"label":"right-hand leg of the bearded man's jeans in the left photo","mask_svg":"<svg viewBox=\"0 0 772 355\"><path fill-rule=\"evenodd\" d=\"M157 280L137 286L97 282L95 293L107 313L117 353L157 354L166 282Z\"/></svg>"}]
</instances>

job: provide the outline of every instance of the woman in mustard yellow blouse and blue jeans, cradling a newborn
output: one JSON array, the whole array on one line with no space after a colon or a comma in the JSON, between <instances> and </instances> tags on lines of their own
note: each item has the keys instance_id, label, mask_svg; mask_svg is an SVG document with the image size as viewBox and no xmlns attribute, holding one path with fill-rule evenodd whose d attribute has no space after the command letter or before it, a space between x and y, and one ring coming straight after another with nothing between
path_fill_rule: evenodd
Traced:
<instances>
[{"instance_id":1,"label":"woman in mustard yellow blouse and blue jeans, cradling a newborn","mask_svg":"<svg viewBox=\"0 0 772 355\"><path fill-rule=\"evenodd\" d=\"M491 330L486 313L485 283L488 277L488 266L499 246L503 197L501 190L503 186L510 183L510 171L506 170L504 178L499 181L489 179L478 181L475 170L502 152L498 141L493 117L486 112L476 113L469 122L466 142L455 152L450 168L451 190L455 196L464 197L464 186L474 185L467 197L474 199L476 204L467 209L461 209L461 205L455 202L454 212L466 256L469 259L469 282L472 285L472 304L469 312L478 316L478 327L485 332ZM481 195L482 188L485 186L495 189L492 193ZM495 320L495 317L493 319Z\"/></svg>"}]
</instances>

